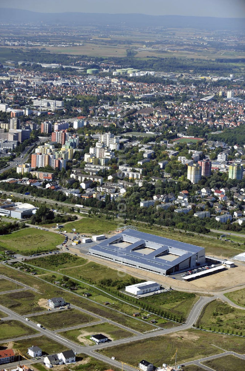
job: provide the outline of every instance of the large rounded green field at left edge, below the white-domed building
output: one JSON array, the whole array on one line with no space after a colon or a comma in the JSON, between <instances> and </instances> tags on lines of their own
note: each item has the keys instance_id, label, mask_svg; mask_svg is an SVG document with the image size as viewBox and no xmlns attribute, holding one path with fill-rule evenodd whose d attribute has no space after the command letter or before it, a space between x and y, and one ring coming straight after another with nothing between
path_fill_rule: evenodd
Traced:
<instances>
[{"instance_id":1,"label":"large rounded green field at left edge, below the white-domed building","mask_svg":"<svg viewBox=\"0 0 245 371\"><path fill-rule=\"evenodd\" d=\"M12 250L22 255L32 255L35 252L54 250L63 241L64 238L59 234L26 228L0 236L0 249Z\"/></svg>"}]
</instances>

